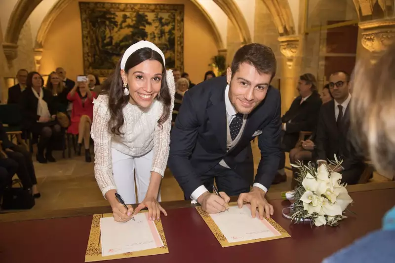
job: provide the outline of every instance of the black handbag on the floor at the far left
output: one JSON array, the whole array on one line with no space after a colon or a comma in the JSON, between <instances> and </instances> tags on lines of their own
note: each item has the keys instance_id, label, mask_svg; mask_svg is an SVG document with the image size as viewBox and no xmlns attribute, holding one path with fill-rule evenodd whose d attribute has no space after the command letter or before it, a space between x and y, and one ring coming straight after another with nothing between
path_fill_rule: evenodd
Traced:
<instances>
[{"instance_id":1,"label":"black handbag on the floor at the far left","mask_svg":"<svg viewBox=\"0 0 395 263\"><path fill-rule=\"evenodd\" d=\"M20 187L12 187L14 184L19 184ZM22 188L19 179L12 180L3 194L3 203L1 208L7 209L31 209L36 204L31 191Z\"/></svg>"}]
</instances>

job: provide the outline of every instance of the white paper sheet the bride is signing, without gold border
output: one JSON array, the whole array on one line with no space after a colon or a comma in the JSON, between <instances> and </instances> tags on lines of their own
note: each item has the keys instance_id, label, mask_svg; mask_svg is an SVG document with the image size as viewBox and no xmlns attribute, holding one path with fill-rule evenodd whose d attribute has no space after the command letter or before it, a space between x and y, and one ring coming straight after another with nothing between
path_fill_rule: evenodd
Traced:
<instances>
[{"instance_id":1,"label":"white paper sheet the bride is signing, without gold border","mask_svg":"<svg viewBox=\"0 0 395 263\"><path fill-rule=\"evenodd\" d=\"M134 216L135 221L116 222L114 217L100 219L102 256L162 247L154 221L148 220L148 213Z\"/></svg>"}]
</instances>

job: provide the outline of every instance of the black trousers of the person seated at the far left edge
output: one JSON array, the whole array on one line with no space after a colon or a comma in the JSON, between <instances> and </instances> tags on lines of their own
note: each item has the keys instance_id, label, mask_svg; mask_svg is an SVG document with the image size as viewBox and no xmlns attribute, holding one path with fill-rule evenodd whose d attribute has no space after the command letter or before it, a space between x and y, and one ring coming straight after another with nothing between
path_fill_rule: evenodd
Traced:
<instances>
[{"instance_id":1,"label":"black trousers of the person seated at the far left edge","mask_svg":"<svg viewBox=\"0 0 395 263\"><path fill-rule=\"evenodd\" d=\"M9 159L18 163L16 174L21 180L23 188L31 189L33 185L37 184L32 155L26 149L18 145L13 145L10 149L12 152L6 151L6 154Z\"/></svg>"}]
</instances>

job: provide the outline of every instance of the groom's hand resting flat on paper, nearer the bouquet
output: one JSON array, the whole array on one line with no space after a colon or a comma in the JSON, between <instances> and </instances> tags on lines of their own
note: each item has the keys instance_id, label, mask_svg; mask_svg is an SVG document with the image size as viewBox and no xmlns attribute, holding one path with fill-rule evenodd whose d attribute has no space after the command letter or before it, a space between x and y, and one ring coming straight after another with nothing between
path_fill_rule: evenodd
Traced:
<instances>
[{"instance_id":1,"label":"groom's hand resting flat on paper, nearer the bouquet","mask_svg":"<svg viewBox=\"0 0 395 263\"><path fill-rule=\"evenodd\" d=\"M255 218L256 209L258 208L259 218L263 219L263 212L266 217L270 218L273 215L273 205L271 205L265 198L265 191L258 187L253 187L249 193L241 194L237 199L238 208L243 206L243 202L251 204L251 216Z\"/></svg>"}]
</instances>

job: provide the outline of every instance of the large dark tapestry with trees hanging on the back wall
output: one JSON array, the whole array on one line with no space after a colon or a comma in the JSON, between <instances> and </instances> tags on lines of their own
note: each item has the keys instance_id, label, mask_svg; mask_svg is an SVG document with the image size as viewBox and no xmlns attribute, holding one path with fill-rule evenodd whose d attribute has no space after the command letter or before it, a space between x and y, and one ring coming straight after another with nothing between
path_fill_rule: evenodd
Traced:
<instances>
[{"instance_id":1,"label":"large dark tapestry with trees hanging on the back wall","mask_svg":"<svg viewBox=\"0 0 395 263\"><path fill-rule=\"evenodd\" d=\"M79 2L84 73L107 77L140 40L163 51L166 68L184 67L184 5Z\"/></svg>"}]
</instances>

